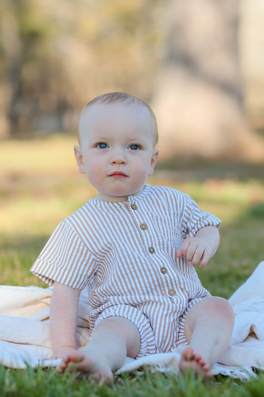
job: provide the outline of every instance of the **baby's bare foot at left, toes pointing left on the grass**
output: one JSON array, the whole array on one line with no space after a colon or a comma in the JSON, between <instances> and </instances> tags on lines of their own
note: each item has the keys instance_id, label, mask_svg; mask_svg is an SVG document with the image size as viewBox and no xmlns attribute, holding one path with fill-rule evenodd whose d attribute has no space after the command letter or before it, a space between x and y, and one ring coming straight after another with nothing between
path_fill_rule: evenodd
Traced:
<instances>
[{"instance_id":1,"label":"baby's bare foot at left, toes pointing left on the grass","mask_svg":"<svg viewBox=\"0 0 264 397\"><path fill-rule=\"evenodd\" d=\"M93 350L76 351L65 356L57 370L64 372L67 368L71 372L80 371L83 377L91 377L97 382L103 380L104 383L109 384L113 380L113 374L106 357L99 357L99 354Z\"/></svg>"}]
</instances>

